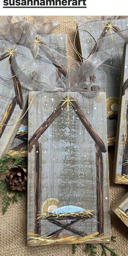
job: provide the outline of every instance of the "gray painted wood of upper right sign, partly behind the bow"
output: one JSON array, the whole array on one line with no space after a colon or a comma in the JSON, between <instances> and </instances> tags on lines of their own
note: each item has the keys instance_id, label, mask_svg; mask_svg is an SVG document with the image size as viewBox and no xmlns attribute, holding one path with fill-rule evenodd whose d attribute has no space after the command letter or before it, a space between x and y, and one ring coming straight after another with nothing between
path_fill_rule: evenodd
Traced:
<instances>
[{"instance_id":1,"label":"gray painted wood of upper right sign, partly behind the bow","mask_svg":"<svg viewBox=\"0 0 128 256\"><path fill-rule=\"evenodd\" d=\"M103 32L104 27L106 26L107 21L96 21L96 22L88 22L79 23L82 27L86 28L94 38L97 40L100 37L101 32ZM127 28L128 20L121 19L121 20L112 20L112 24L116 25L121 30ZM108 30L107 34L110 31ZM91 35L87 32L83 31L82 28L78 28L78 36L79 36L79 47L82 56L87 58L89 53L92 51L95 41ZM117 36L118 39L118 36ZM118 40L117 40L118 44ZM117 106L117 99L119 97L119 90L120 90L120 77L121 77L121 63L123 59L123 47L124 45L114 46L111 50L111 59L105 62L105 64L116 67L118 69L113 69L111 67L106 67L104 64L101 65L101 68L104 70L106 74L106 84L105 84L105 76L104 73L101 72L100 69L97 69L95 72L96 82L101 88L101 91L106 92L107 97L107 111L112 111L113 104L116 103ZM110 98L116 97L116 98ZM110 107L108 108L108 102L110 102ZM107 118L107 135L108 135L108 146L113 145L113 142L116 139L116 130L117 130L117 116L115 115L114 118Z\"/></svg>"}]
</instances>

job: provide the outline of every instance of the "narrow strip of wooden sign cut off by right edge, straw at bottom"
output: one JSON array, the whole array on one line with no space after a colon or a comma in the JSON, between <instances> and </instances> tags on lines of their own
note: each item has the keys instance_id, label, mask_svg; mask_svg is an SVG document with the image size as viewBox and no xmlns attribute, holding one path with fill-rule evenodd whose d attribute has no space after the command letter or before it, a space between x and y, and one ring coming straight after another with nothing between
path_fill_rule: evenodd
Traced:
<instances>
[{"instance_id":1,"label":"narrow strip of wooden sign cut off by right edge, straw at bottom","mask_svg":"<svg viewBox=\"0 0 128 256\"><path fill-rule=\"evenodd\" d=\"M120 88L117 139L114 156L114 182L128 184L128 44L124 47L124 61Z\"/></svg>"}]
</instances>

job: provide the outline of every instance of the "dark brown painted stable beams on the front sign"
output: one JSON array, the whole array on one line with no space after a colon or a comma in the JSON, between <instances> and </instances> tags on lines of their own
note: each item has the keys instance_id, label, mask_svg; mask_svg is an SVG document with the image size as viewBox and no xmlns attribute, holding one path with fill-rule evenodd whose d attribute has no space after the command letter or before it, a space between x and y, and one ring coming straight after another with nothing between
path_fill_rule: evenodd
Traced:
<instances>
[{"instance_id":1,"label":"dark brown painted stable beams on the front sign","mask_svg":"<svg viewBox=\"0 0 128 256\"><path fill-rule=\"evenodd\" d=\"M67 97L64 98L67 99ZM79 116L80 121L84 124L87 132L92 137L95 142L96 148L96 169L97 169L97 229L99 234L104 234L104 207L103 207L103 156L102 153L106 152L105 144L100 139L99 135L95 133L91 124L88 122L84 113L79 108L76 101L70 97L72 102L69 105L72 106L75 113ZM66 102L66 101L65 101ZM28 151L31 152L35 146L35 234L41 235L41 225L37 217L39 212L41 212L41 166L42 166L42 152L41 143L39 143L40 136L45 132L45 130L54 122L54 120L61 114L63 108L66 108L66 104L62 102L56 107L56 110L47 118L46 121L36 130L36 132L31 136L28 142ZM55 223L54 223L55 224ZM57 225L58 223L56 223ZM59 223L60 224L60 223ZM72 223L73 224L73 223ZM69 224L68 224L69 225ZM68 226L62 227L66 229Z\"/></svg>"}]
</instances>

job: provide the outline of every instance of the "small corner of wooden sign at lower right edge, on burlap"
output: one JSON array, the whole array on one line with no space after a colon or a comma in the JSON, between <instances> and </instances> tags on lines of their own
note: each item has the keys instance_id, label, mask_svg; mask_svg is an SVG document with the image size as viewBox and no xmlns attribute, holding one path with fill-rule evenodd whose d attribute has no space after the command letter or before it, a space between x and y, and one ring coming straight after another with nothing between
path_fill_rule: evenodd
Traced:
<instances>
[{"instance_id":1,"label":"small corner of wooden sign at lower right edge, on burlap","mask_svg":"<svg viewBox=\"0 0 128 256\"><path fill-rule=\"evenodd\" d=\"M128 227L128 193L114 206L113 211Z\"/></svg>"}]
</instances>

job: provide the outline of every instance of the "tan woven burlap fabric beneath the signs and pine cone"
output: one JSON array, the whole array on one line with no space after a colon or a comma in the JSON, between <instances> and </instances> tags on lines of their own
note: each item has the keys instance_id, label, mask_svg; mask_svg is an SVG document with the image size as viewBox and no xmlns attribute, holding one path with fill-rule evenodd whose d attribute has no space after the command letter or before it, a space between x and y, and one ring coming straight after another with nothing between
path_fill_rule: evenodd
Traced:
<instances>
[{"instance_id":1,"label":"tan woven burlap fabric beneath the signs and pine cone","mask_svg":"<svg viewBox=\"0 0 128 256\"><path fill-rule=\"evenodd\" d=\"M88 20L103 19L103 17L96 16L87 17ZM34 22L34 16L29 16L27 19ZM73 42L76 25L73 21L73 17L69 16L54 16L47 17L47 20L57 20L61 22L61 25L55 30L54 33L66 33L66 27L68 28L68 34ZM67 23L66 23L67 22ZM68 41L68 56L76 58L76 54ZM109 156L109 169L110 169L110 200L111 209L127 192L128 186L116 185L112 183L112 171L113 171L113 158L114 148L110 147L108 150ZM27 195L18 200L18 203L10 205L8 211L3 216L1 213L0 204L0 255L1 256L69 256L72 255L72 245L59 245L59 246L33 246L29 247L26 243L27 234ZM115 247L120 256L127 256L127 238L128 229L120 221L120 219L111 210L111 234L117 237L115 243L111 244L111 247ZM84 256L85 245L78 245L76 249L76 256ZM87 255L87 254L86 254ZM101 255L101 248L98 246L97 255ZM108 253L110 255L110 253Z\"/></svg>"}]
</instances>

